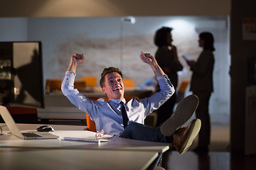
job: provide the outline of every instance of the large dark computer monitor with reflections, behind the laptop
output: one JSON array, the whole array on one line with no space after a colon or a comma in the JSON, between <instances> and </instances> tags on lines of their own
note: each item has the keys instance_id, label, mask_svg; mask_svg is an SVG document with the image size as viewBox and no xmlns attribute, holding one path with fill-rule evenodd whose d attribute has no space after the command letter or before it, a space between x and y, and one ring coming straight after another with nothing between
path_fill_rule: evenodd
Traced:
<instances>
[{"instance_id":1,"label":"large dark computer monitor with reflections, behind the laptop","mask_svg":"<svg viewBox=\"0 0 256 170\"><path fill-rule=\"evenodd\" d=\"M41 42L0 42L0 104L44 108Z\"/></svg>"}]
</instances>

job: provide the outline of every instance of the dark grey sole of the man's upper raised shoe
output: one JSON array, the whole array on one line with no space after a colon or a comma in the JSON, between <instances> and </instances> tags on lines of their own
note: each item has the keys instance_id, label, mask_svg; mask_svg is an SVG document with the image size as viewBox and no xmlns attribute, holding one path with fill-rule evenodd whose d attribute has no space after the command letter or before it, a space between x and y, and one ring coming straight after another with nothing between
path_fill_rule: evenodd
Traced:
<instances>
[{"instance_id":1,"label":"dark grey sole of the man's upper raised shoe","mask_svg":"<svg viewBox=\"0 0 256 170\"><path fill-rule=\"evenodd\" d=\"M161 125L160 130L164 136L171 136L178 128L188 121L198 107L199 99L196 95L183 98L177 105L174 114Z\"/></svg>"}]
</instances>

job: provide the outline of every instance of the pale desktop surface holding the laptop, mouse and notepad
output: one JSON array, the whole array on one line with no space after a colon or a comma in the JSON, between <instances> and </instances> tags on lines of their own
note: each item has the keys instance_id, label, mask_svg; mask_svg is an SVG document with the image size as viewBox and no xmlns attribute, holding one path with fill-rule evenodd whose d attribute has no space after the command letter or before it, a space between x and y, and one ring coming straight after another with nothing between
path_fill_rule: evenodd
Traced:
<instances>
[{"instance_id":1,"label":"pale desktop surface holding the laptop, mouse and notepad","mask_svg":"<svg viewBox=\"0 0 256 170\"><path fill-rule=\"evenodd\" d=\"M1 124L0 125L4 125ZM18 128L23 130L36 130L41 125L36 124L17 124ZM55 132L54 135L60 136L58 140L21 140L20 138L7 134L0 136L0 147L62 147L62 148L82 148L82 149L130 149L130 150L149 150L155 152L165 152L169 149L171 144L161 142L145 142L141 140L129 140L121 137L112 137L109 142L73 142L63 140L63 137L93 137L95 132L85 130L85 126L73 125L51 125ZM9 132L7 127L3 128L4 132Z\"/></svg>"}]
</instances>

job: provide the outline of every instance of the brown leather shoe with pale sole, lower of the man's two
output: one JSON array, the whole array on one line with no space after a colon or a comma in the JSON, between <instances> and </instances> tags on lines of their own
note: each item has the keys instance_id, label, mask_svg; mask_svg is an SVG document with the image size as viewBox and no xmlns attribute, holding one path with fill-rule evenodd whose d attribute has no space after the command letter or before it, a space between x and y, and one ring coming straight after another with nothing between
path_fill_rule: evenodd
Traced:
<instances>
[{"instance_id":1,"label":"brown leather shoe with pale sole, lower of the man's two","mask_svg":"<svg viewBox=\"0 0 256 170\"><path fill-rule=\"evenodd\" d=\"M192 145L201 128L201 120L193 119L186 128L179 128L174 132L174 147L178 153L183 154Z\"/></svg>"}]
</instances>

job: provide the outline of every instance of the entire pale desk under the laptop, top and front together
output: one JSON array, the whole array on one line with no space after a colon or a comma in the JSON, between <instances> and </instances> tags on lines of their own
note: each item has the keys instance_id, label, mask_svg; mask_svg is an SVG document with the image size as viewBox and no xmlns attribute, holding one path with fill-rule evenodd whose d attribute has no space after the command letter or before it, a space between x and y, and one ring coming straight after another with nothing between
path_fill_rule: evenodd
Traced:
<instances>
[{"instance_id":1,"label":"entire pale desk under the laptop, top and front together","mask_svg":"<svg viewBox=\"0 0 256 170\"><path fill-rule=\"evenodd\" d=\"M4 125L4 124L0 124ZM40 125L17 124L20 130L36 130ZM84 126L52 125L58 140L21 140L14 135L0 136L0 169L146 169L169 144L112 137L109 142L73 142L66 135L95 135ZM4 127L4 132L8 128ZM43 163L42 163L43 162ZM44 164L45 163L45 164ZM35 166L37 167L37 166Z\"/></svg>"}]
</instances>

